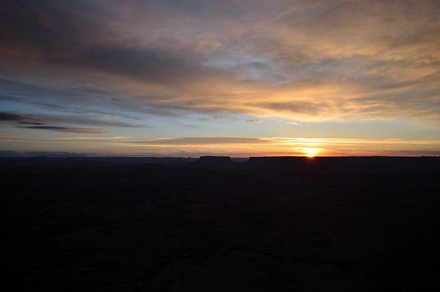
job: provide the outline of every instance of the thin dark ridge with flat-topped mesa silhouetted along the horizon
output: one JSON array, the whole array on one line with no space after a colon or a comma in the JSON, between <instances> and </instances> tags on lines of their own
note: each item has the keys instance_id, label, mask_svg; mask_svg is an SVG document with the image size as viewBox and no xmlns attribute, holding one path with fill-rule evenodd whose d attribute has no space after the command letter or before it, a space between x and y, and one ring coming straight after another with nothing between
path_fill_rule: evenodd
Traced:
<instances>
[{"instance_id":1,"label":"thin dark ridge with flat-topped mesa silhouetted along the horizon","mask_svg":"<svg viewBox=\"0 0 440 292\"><path fill-rule=\"evenodd\" d=\"M440 156L251 156L234 161L230 156L175 157L0 157L0 167L199 167L231 169L291 169L297 171L440 171ZM240 162L241 161L241 162Z\"/></svg>"}]
</instances>

